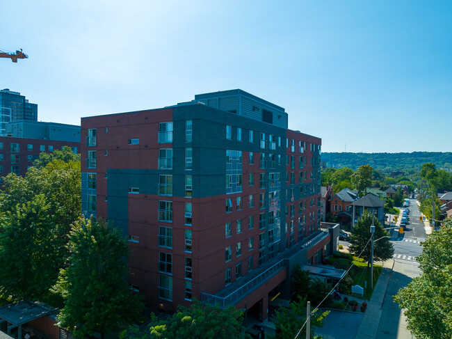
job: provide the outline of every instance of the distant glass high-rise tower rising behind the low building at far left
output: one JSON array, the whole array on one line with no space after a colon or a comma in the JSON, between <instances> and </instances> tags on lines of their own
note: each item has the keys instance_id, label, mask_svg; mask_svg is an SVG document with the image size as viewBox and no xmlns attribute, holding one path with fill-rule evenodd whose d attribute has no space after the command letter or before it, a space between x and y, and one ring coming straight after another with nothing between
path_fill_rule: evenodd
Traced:
<instances>
[{"instance_id":1,"label":"distant glass high-rise tower rising behind the low building at far left","mask_svg":"<svg viewBox=\"0 0 452 339\"><path fill-rule=\"evenodd\" d=\"M38 121L38 104L31 104L9 88L0 90L0 135L6 133L6 123L17 120Z\"/></svg>"}]
</instances>

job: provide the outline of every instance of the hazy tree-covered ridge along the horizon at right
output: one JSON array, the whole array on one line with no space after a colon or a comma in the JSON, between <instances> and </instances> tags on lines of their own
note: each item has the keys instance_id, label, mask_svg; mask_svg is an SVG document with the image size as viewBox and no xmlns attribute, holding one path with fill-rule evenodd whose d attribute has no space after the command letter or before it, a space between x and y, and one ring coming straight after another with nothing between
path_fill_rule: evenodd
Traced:
<instances>
[{"instance_id":1,"label":"hazy tree-covered ridge along the horizon at right","mask_svg":"<svg viewBox=\"0 0 452 339\"><path fill-rule=\"evenodd\" d=\"M422 164L433 162L437 168L452 168L452 152L411 152L411 153L352 153L323 152L322 161L326 167L352 168L354 171L369 164L378 170L403 170L412 168L417 171Z\"/></svg>"}]
</instances>

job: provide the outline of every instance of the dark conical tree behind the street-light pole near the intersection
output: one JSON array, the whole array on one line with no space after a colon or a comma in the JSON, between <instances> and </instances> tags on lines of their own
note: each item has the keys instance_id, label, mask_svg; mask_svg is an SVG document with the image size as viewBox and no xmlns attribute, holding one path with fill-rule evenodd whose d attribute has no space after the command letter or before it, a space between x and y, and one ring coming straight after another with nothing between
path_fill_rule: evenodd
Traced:
<instances>
[{"instance_id":1,"label":"dark conical tree behind the street-light pole near the intersection","mask_svg":"<svg viewBox=\"0 0 452 339\"><path fill-rule=\"evenodd\" d=\"M373 239L377 240L384 237L373 245L373 260L388 260L394 255L394 246L392 246L388 238L385 238L389 236L389 232L381 226L380 221L373 219L373 216L367 210L364 211L351 231L350 246L348 249L350 253L360 255L361 251L365 248L361 257L369 262L371 258L371 242L369 242L369 239L371 239L372 223L375 226Z\"/></svg>"}]
</instances>

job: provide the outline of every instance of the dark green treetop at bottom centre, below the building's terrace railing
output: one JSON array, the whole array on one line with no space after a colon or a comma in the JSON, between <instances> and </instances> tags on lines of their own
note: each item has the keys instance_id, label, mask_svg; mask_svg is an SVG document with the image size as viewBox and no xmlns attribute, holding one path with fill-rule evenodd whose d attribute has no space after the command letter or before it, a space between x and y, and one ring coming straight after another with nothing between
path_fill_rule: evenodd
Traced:
<instances>
[{"instance_id":1,"label":"dark green treetop at bottom centre, below the building's terrace railing","mask_svg":"<svg viewBox=\"0 0 452 339\"><path fill-rule=\"evenodd\" d=\"M154 316L150 324L150 333L143 334L140 339L248 339L245 329L241 325L243 311L236 310L234 306L219 308L209 304L200 303L193 299L190 308L179 306L177 313L168 320L157 320ZM123 332L121 339L131 338L129 333L134 329ZM137 338L136 335L133 338Z\"/></svg>"}]
</instances>

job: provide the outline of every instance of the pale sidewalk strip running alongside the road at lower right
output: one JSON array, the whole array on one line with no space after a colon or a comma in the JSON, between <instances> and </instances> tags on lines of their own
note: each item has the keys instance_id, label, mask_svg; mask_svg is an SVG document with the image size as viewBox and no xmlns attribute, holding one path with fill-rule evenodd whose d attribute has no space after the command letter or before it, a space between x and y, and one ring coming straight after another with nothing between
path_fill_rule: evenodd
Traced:
<instances>
[{"instance_id":1,"label":"pale sidewalk strip running alongside the road at lower right","mask_svg":"<svg viewBox=\"0 0 452 339\"><path fill-rule=\"evenodd\" d=\"M366 313L362 319L356 339L375 339L382 315L382 303L385 299L389 278L391 278L394 260L387 260L383 266L377 284L373 289L371 300L368 303Z\"/></svg>"}]
</instances>

